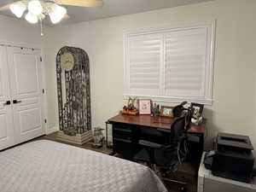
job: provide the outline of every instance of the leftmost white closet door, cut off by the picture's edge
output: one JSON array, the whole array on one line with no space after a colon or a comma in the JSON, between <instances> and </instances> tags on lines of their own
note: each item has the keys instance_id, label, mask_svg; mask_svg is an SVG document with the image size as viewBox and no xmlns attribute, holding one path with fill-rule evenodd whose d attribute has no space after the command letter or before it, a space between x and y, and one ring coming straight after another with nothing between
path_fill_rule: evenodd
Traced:
<instances>
[{"instance_id":1,"label":"leftmost white closet door, cut off by the picture's edge","mask_svg":"<svg viewBox=\"0 0 256 192\"><path fill-rule=\"evenodd\" d=\"M6 48L0 46L0 150L15 144Z\"/></svg>"}]
</instances>

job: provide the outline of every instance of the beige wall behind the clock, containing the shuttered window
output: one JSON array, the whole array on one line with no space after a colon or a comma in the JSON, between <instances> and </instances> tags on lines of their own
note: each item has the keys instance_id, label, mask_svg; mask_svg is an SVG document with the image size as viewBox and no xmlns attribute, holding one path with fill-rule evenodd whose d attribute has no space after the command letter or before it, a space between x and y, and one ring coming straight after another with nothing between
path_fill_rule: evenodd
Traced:
<instances>
[{"instance_id":1,"label":"beige wall behind the clock, containing the shuttered window","mask_svg":"<svg viewBox=\"0 0 256 192\"><path fill-rule=\"evenodd\" d=\"M93 126L123 105L123 34L151 26L217 20L213 105L206 109L209 138L218 131L249 135L256 148L256 1L217 0L173 9L49 28L45 44L49 126L57 127L55 55L62 46L90 56Z\"/></svg>"}]
</instances>

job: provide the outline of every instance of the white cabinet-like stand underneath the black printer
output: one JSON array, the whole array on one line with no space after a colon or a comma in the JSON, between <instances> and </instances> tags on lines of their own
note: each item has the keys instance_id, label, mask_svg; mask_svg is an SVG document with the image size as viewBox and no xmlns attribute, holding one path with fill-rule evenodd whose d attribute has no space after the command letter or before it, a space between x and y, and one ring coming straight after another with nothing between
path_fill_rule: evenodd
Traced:
<instances>
[{"instance_id":1,"label":"white cabinet-like stand underneath the black printer","mask_svg":"<svg viewBox=\"0 0 256 192\"><path fill-rule=\"evenodd\" d=\"M252 183L241 183L235 180L216 177L204 165L205 154L201 158L198 172L197 192L256 192L256 177Z\"/></svg>"}]
</instances>

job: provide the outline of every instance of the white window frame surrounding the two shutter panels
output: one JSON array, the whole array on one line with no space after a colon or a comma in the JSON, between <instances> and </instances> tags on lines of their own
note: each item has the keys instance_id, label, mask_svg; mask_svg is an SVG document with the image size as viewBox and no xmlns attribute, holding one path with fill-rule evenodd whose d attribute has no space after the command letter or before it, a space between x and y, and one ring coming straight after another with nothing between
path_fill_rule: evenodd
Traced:
<instances>
[{"instance_id":1,"label":"white window frame surrounding the two shutter panels","mask_svg":"<svg viewBox=\"0 0 256 192\"><path fill-rule=\"evenodd\" d=\"M178 25L178 26L161 26L161 27L150 27L150 28L144 28L139 29L133 32L125 32L124 34L124 92L123 97L124 99L128 99L129 96L137 96L141 99L152 99L154 102L200 102L205 105L212 105L213 99L212 99L212 90L213 90L213 67L214 67L214 49L215 49L215 26L216 26L216 20L207 21L207 22L201 22L201 23L194 23L189 25ZM146 34L157 34L162 33L164 36L166 32L173 32L177 30L189 30L189 29L196 29L205 27L207 29L207 67L206 67L206 78L205 79L205 96L203 98L199 97L190 97L190 96L144 96L144 95L133 95L129 93L129 38L130 37L136 37L139 35L146 35ZM210 39L208 39L210 38ZM162 45L164 46L165 41L163 39ZM161 58L165 57L165 49L162 48ZM163 54L163 55L162 55ZM162 59L161 59L162 60ZM161 61L164 63L164 61ZM160 79L161 80L161 79ZM162 90L161 90L162 91Z\"/></svg>"}]
</instances>

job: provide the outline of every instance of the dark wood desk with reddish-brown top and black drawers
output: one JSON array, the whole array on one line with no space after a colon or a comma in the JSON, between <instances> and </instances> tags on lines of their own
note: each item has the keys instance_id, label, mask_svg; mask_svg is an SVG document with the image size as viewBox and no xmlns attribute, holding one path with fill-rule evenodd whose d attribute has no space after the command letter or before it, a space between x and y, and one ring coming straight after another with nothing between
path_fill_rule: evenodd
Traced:
<instances>
[{"instance_id":1,"label":"dark wood desk with reddish-brown top and black drawers","mask_svg":"<svg viewBox=\"0 0 256 192\"><path fill-rule=\"evenodd\" d=\"M113 128L113 153L123 154L127 159L131 159L140 148L138 140L149 139L153 142L161 142L162 138L150 137L145 135L142 130L171 129L174 118L152 117L150 115L127 115L121 114L108 119L106 122L106 136L108 143L108 124ZM191 125L189 135L193 136L195 141L189 143L189 150L193 150L193 154L198 160L201 160L201 154L204 146L204 133L206 131L207 119L204 119L201 125ZM159 139L158 141L155 141Z\"/></svg>"}]
</instances>

